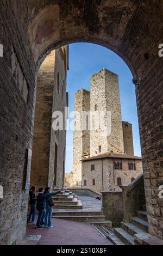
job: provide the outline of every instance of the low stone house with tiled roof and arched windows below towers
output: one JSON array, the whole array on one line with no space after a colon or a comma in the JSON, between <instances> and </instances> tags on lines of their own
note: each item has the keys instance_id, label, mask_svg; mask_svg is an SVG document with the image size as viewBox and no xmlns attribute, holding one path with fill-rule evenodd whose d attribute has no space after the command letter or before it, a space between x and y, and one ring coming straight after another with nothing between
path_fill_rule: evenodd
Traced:
<instances>
[{"instance_id":1,"label":"low stone house with tiled roof and arched windows below towers","mask_svg":"<svg viewBox=\"0 0 163 256\"><path fill-rule=\"evenodd\" d=\"M120 167L117 163L120 163ZM93 170L91 170L92 164ZM129 168L129 164L133 167ZM82 187L100 194L101 191L106 190L121 191L121 185L129 185L141 173L141 157L102 154L82 160Z\"/></svg>"}]
</instances>

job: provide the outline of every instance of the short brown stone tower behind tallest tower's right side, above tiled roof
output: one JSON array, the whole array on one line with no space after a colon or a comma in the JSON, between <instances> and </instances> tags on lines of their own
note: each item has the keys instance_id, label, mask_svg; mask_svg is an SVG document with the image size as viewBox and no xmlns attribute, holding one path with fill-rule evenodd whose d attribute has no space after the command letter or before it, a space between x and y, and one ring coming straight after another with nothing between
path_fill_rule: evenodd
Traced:
<instances>
[{"instance_id":1,"label":"short brown stone tower behind tallest tower's right side, above tiled roof","mask_svg":"<svg viewBox=\"0 0 163 256\"><path fill-rule=\"evenodd\" d=\"M123 127L123 141L124 141L124 153L127 155L134 155L134 144L133 144L133 128L132 124L122 121Z\"/></svg>"}]
</instances>

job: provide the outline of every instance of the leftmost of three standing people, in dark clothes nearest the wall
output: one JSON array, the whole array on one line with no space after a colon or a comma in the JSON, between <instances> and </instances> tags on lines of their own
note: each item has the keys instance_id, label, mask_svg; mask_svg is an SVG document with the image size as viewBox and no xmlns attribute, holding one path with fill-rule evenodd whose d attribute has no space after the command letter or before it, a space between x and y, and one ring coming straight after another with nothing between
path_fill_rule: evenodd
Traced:
<instances>
[{"instance_id":1,"label":"leftmost of three standing people, in dark clothes nearest the wall","mask_svg":"<svg viewBox=\"0 0 163 256\"><path fill-rule=\"evenodd\" d=\"M31 222L33 224L35 223L35 214L36 214L36 196L35 196L35 191L36 191L36 186L32 186L32 188L30 188L29 191L29 205L30 205L30 213L29 213L29 217L28 217L28 222ZM31 220L32 217L32 221Z\"/></svg>"}]
</instances>

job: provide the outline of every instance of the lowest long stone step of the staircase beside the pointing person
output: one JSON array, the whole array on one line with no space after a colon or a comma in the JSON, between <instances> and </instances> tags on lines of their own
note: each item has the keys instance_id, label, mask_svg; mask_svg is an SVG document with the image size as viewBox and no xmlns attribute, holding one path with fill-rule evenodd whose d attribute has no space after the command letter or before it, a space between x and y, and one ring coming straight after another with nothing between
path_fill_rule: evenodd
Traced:
<instances>
[{"instance_id":1,"label":"lowest long stone step of the staircase beside the pointing person","mask_svg":"<svg viewBox=\"0 0 163 256\"><path fill-rule=\"evenodd\" d=\"M60 218L68 221L78 221L78 222L103 222L105 221L104 215L79 215L79 216L52 216L52 218Z\"/></svg>"}]
</instances>

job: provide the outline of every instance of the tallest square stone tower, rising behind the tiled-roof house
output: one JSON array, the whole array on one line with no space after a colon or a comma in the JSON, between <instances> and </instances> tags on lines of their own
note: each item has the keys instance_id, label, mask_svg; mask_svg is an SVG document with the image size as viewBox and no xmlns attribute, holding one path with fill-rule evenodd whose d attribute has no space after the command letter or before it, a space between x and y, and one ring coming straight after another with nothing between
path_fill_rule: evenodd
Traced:
<instances>
[{"instance_id":1,"label":"tallest square stone tower, rising behind the tiled-roof house","mask_svg":"<svg viewBox=\"0 0 163 256\"><path fill-rule=\"evenodd\" d=\"M114 153L124 153L118 75L102 69L91 77L90 111L95 113L94 122L102 123L98 118L100 114L107 126L107 129L104 129L103 124L96 124L95 129L93 124L93 129L90 130L90 156L111 150Z\"/></svg>"}]
</instances>

